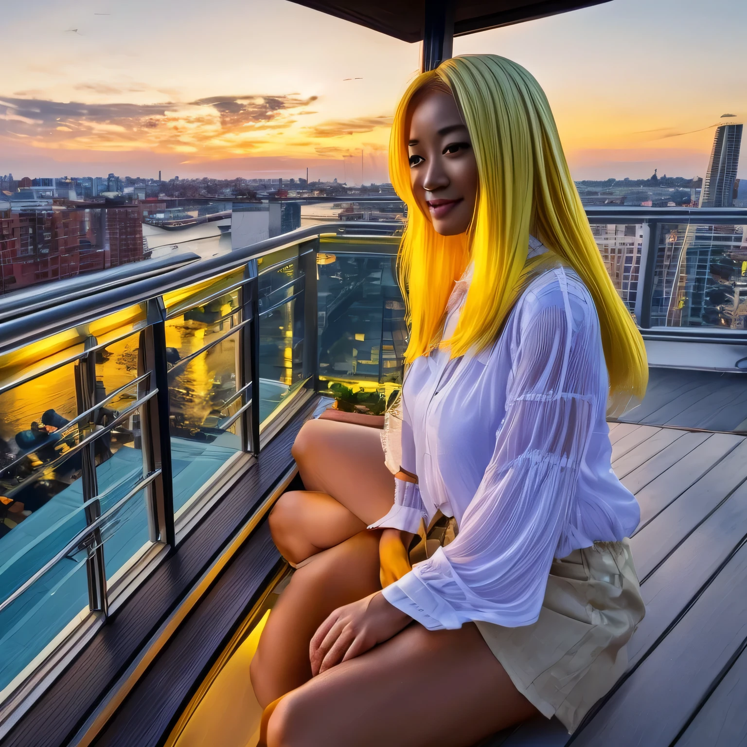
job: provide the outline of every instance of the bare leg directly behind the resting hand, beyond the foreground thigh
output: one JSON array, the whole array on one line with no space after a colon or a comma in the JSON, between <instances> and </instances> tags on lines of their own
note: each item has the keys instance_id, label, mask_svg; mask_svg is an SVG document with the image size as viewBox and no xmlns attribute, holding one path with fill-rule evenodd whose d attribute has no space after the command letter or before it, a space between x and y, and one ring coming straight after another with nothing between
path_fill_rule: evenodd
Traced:
<instances>
[{"instance_id":1,"label":"bare leg directly behind the resting hand, beyond the foreground thigh","mask_svg":"<svg viewBox=\"0 0 747 747\"><path fill-rule=\"evenodd\" d=\"M262 707L311 678L309 642L329 613L381 588L379 535L364 530L293 574L252 659L252 685Z\"/></svg>"}]
</instances>

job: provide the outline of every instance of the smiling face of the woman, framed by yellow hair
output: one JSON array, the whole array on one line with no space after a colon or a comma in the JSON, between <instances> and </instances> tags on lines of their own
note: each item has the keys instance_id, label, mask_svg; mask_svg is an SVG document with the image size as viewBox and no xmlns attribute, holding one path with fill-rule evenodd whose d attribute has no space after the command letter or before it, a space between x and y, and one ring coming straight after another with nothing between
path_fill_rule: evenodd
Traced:
<instances>
[{"instance_id":1,"label":"smiling face of the woman, framed by yellow hair","mask_svg":"<svg viewBox=\"0 0 747 747\"><path fill-rule=\"evenodd\" d=\"M443 236L464 233L477 199L477 161L450 93L415 100L409 132L410 182L421 210Z\"/></svg>"}]
</instances>

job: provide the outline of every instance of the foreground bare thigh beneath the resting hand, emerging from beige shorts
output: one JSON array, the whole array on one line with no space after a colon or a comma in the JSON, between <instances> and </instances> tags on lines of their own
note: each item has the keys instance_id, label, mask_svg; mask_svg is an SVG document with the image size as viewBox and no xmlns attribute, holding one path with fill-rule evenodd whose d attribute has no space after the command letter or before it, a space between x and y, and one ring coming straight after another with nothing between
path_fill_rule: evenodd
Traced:
<instances>
[{"instance_id":1,"label":"foreground bare thigh beneath the resting hand, emerging from beige shorts","mask_svg":"<svg viewBox=\"0 0 747 747\"><path fill-rule=\"evenodd\" d=\"M267 744L468 747L536 713L474 624L413 624L289 692Z\"/></svg>"}]
</instances>

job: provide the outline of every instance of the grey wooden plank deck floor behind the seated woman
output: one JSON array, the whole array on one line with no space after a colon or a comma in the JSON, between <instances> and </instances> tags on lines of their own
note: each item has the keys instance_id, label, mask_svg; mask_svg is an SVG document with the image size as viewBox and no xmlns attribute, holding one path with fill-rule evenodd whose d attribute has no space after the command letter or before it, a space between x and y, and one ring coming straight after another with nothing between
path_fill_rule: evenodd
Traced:
<instances>
[{"instance_id":1,"label":"grey wooden plank deck floor behind the seated woman","mask_svg":"<svg viewBox=\"0 0 747 747\"><path fill-rule=\"evenodd\" d=\"M679 383L677 396L708 396ZM654 384L651 417L668 406ZM538 718L483 747L747 745L747 438L621 422L610 440L641 504L630 543L646 616L626 675L573 737Z\"/></svg>"}]
</instances>

